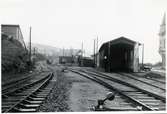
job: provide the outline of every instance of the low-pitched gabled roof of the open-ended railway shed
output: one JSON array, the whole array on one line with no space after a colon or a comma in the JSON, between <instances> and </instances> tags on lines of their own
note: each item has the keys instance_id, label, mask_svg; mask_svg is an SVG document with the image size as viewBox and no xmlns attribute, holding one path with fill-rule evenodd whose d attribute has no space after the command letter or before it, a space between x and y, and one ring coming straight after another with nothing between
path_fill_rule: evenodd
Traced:
<instances>
[{"instance_id":1,"label":"low-pitched gabled roof of the open-ended railway shed","mask_svg":"<svg viewBox=\"0 0 167 114\"><path fill-rule=\"evenodd\" d=\"M130 40L129 38L125 38L125 37L122 36L122 37L116 38L114 40L111 40L111 41L103 43L102 46L100 47L99 51L102 48L104 48L109 43L110 43L110 45L119 44L119 43L124 43L124 44L129 44L129 45L135 45L137 42L133 41L133 40ZM139 43L139 45L140 45L140 43Z\"/></svg>"}]
</instances>

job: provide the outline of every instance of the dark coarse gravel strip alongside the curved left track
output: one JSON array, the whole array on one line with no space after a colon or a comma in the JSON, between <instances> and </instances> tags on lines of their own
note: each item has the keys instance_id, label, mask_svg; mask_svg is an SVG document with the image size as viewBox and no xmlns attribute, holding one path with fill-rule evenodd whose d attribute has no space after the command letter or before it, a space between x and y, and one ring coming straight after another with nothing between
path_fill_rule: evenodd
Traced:
<instances>
[{"instance_id":1,"label":"dark coarse gravel strip alongside the curved left track","mask_svg":"<svg viewBox=\"0 0 167 114\"><path fill-rule=\"evenodd\" d=\"M70 88L70 83L64 75L62 75L61 70L54 72L55 76L53 78L53 89L50 92L47 99L41 104L38 112L65 112L69 111L67 105L68 100L68 89Z\"/></svg>"}]
</instances>

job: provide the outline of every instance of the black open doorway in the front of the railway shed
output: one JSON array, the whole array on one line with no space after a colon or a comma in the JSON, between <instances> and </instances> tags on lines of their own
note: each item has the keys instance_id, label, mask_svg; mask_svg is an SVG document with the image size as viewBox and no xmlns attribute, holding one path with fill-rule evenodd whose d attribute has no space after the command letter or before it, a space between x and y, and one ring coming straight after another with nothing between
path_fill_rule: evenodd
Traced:
<instances>
[{"instance_id":1,"label":"black open doorway in the front of the railway shed","mask_svg":"<svg viewBox=\"0 0 167 114\"><path fill-rule=\"evenodd\" d=\"M110 71L133 70L133 45L119 43L110 46Z\"/></svg>"}]
</instances>

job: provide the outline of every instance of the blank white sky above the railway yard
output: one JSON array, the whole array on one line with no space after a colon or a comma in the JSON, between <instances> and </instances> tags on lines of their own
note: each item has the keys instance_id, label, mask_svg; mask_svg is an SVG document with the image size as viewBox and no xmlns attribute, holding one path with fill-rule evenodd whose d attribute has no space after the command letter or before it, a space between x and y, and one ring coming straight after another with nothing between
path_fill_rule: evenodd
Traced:
<instances>
[{"instance_id":1,"label":"blank white sky above the railway yard","mask_svg":"<svg viewBox=\"0 0 167 114\"><path fill-rule=\"evenodd\" d=\"M159 29L167 0L0 0L0 23L19 24L25 42L93 54L98 47L124 36L144 43L144 62L161 61ZM141 61L141 50L140 57Z\"/></svg>"}]
</instances>

